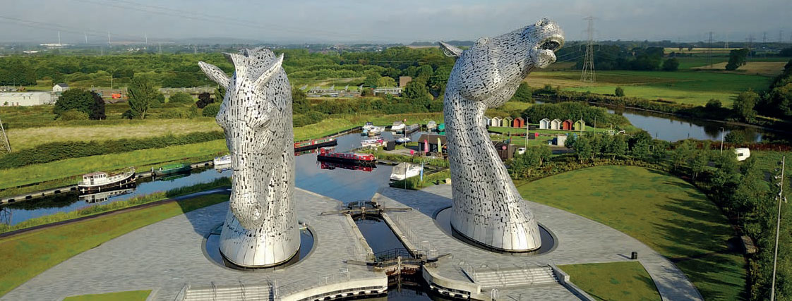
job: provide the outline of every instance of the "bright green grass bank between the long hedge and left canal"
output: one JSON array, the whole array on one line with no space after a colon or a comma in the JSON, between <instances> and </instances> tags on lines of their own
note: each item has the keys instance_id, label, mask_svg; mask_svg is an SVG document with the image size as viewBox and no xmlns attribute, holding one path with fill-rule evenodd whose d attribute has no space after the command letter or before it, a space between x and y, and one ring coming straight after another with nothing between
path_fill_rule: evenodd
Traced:
<instances>
[{"instance_id":1,"label":"bright green grass bank between the long hedge and left canal","mask_svg":"<svg viewBox=\"0 0 792 301\"><path fill-rule=\"evenodd\" d=\"M64 177L82 175L91 171L112 171L130 166L135 166L138 171L144 171L154 165L159 166L162 162L170 162L180 158L211 160L215 154L220 152L227 152L226 141L216 140L192 145L171 146L163 149L142 149L134 152L70 158L45 164L3 169L0 170L0 179L2 179L0 189L21 186L31 182L63 179ZM68 180L67 185L76 183L77 181L75 180L76 178ZM44 187L39 188L45 189Z\"/></svg>"}]
</instances>

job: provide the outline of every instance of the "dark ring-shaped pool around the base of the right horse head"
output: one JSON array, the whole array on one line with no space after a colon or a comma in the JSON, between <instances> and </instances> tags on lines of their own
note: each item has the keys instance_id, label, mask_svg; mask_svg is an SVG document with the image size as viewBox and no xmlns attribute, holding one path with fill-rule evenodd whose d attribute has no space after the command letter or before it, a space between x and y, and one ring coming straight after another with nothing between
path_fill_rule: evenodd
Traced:
<instances>
[{"instance_id":1,"label":"dark ring-shaped pool around the base of the right horse head","mask_svg":"<svg viewBox=\"0 0 792 301\"><path fill-rule=\"evenodd\" d=\"M440 228L445 234L451 236L463 243L466 243L470 246L475 246L482 250L488 250L493 253L501 253L501 254L513 254L515 256L534 256L539 254L546 254L552 250L555 250L556 246L558 246L558 239L555 235L553 235L550 230L547 230L542 224L539 224L539 238L542 239L542 246L539 246L537 250L530 250L530 251L512 251L512 250L503 250L494 248L492 246L487 246L483 243L479 243L474 239L470 239L466 235L459 233L451 226L451 207L446 207L444 209L438 210L435 215L433 216L435 220L435 225L437 228Z\"/></svg>"}]
</instances>

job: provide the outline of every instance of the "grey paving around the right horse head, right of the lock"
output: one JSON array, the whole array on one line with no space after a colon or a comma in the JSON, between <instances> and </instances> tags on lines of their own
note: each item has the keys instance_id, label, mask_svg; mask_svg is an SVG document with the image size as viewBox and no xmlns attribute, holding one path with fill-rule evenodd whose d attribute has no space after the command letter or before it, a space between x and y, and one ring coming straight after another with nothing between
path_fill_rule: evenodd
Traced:
<instances>
[{"instance_id":1,"label":"grey paving around the right horse head, right of the lock","mask_svg":"<svg viewBox=\"0 0 792 301\"><path fill-rule=\"evenodd\" d=\"M629 261L632 251L638 252L638 261L651 275L657 290L664 300L703 300L699 291L687 279L684 273L667 258L646 246L638 239L632 238L621 231L589 220L583 216L555 209L547 205L529 201L531 209L539 224L553 232L558 239L558 246L549 253L537 256L513 256L496 254L462 243L447 235L435 224L432 216L440 209L451 205L451 186L430 186L424 190L400 190L386 188L375 195L376 201L386 207L412 207L415 210L405 213L387 213L401 225L407 225L408 231L420 245L431 242L438 254L452 254L452 264L440 265L438 269L444 277L455 280L467 280L459 270L459 263L472 265L482 264L489 267L503 268L524 265L569 265L579 263L598 263L612 261ZM468 280L469 281L469 280ZM574 283L574 279L571 279ZM501 296L508 292L501 290ZM516 297L516 293L513 295Z\"/></svg>"}]
</instances>

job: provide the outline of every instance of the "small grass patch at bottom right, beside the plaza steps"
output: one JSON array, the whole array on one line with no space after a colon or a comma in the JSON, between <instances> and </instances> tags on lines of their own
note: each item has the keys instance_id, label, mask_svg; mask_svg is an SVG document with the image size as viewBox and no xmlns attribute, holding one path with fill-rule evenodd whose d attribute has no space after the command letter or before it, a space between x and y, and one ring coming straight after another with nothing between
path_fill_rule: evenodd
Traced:
<instances>
[{"instance_id":1,"label":"small grass patch at bottom right, beside the plaza steps","mask_svg":"<svg viewBox=\"0 0 792 301\"><path fill-rule=\"evenodd\" d=\"M639 261L559 265L569 280L600 300L660 300L652 277Z\"/></svg>"}]
</instances>

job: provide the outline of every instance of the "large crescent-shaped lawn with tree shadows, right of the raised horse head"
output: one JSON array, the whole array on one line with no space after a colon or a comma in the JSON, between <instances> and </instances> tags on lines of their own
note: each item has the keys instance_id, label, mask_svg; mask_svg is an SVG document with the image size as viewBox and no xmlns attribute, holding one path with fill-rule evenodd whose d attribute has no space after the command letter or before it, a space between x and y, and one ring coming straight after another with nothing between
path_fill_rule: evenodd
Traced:
<instances>
[{"instance_id":1,"label":"large crescent-shaped lawn with tree shadows, right of the raised horse head","mask_svg":"<svg viewBox=\"0 0 792 301\"><path fill-rule=\"evenodd\" d=\"M657 250L705 299L743 297L745 260L727 252L733 235L728 221L682 179L642 167L604 166L516 184L527 200L607 224Z\"/></svg>"}]
</instances>

